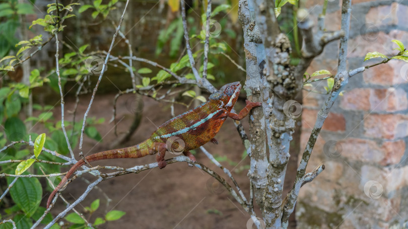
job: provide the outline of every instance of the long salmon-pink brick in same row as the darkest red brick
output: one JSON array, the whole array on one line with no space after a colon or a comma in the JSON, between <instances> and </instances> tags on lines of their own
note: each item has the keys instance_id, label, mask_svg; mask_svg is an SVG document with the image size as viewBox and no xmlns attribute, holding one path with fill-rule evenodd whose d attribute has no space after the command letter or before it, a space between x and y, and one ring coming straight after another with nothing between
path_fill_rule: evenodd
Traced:
<instances>
[{"instance_id":1,"label":"long salmon-pink brick in same row as the darkest red brick","mask_svg":"<svg viewBox=\"0 0 408 229\"><path fill-rule=\"evenodd\" d=\"M408 136L408 121L402 115L368 115L364 119L365 135L373 138L395 139Z\"/></svg>"}]
</instances>

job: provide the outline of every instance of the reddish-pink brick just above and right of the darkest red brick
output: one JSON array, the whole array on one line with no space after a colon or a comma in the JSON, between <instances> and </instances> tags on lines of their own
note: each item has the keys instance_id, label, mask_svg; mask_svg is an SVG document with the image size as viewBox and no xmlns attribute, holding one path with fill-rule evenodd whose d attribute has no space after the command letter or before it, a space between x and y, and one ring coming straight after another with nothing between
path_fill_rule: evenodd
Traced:
<instances>
[{"instance_id":1,"label":"reddish-pink brick just above and right of the darkest red brick","mask_svg":"<svg viewBox=\"0 0 408 229\"><path fill-rule=\"evenodd\" d=\"M347 110L369 110L370 109L370 89L355 88L346 91L341 97L340 107Z\"/></svg>"}]
</instances>

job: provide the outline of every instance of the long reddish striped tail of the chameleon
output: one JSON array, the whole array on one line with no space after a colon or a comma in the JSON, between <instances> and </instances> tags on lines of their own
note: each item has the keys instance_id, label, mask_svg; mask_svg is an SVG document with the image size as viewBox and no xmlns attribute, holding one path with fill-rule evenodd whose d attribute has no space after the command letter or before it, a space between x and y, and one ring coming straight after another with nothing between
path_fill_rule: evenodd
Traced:
<instances>
[{"instance_id":1,"label":"long reddish striped tail of the chameleon","mask_svg":"<svg viewBox=\"0 0 408 229\"><path fill-rule=\"evenodd\" d=\"M148 141L148 140L147 140ZM115 150L108 150L108 151L103 151L99 152L96 154L89 155L85 157L85 159L88 162L93 162L93 161L99 161L99 160L104 160L104 159L114 159L114 158L140 158L144 157L146 155L149 155L149 147L146 147L148 145L147 141L136 145L136 146L129 146L121 149L115 149ZM81 159L78 161L64 176L64 178L59 182L59 184L55 187L55 189L51 192L51 195L48 197L47 200L47 208L51 204L52 198L54 195L64 188L66 185L68 179L74 174L74 172L81 166L85 165L85 161Z\"/></svg>"}]
</instances>

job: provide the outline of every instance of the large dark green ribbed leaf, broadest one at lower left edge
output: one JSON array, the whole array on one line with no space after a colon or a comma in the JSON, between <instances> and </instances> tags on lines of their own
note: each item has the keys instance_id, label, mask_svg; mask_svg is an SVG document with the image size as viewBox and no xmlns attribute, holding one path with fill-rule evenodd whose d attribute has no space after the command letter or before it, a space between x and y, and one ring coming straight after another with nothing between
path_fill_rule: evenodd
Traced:
<instances>
[{"instance_id":1,"label":"large dark green ribbed leaf, broadest one at lower left edge","mask_svg":"<svg viewBox=\"0 0 408 229\"><path fill-rule=\"evenodd\" d=\"M8 177L8 184L13 180L14 177ZM20 177L10 189L10 195L27 216L31 217L40 205L42 187L36 177Z\"/></svg>"}]
</instances>

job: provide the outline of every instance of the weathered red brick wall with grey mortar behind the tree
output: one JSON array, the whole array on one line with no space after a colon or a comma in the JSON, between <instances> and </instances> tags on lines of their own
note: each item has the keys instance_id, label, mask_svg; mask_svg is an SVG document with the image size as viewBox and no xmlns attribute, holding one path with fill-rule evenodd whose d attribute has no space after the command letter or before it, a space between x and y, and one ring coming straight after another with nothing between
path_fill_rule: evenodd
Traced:
<instances>
[{"instance_id":1,"label":"weathered red brick wall with grey mortar behind the tree","mask_svg":"<svg viewBox=\"0 0 408 229\"><path fill-rule=\"evenodd\" d=\"M323 1L307 1L312 15ZM341 3L330 1L326 29L340 28ZM391 40L408 47L408 1L354 1L348 66L368 52L394 55ZM307 70L336 72L338 42L329 44ZM326 170L303 186L296 209L298 228L408 228L408 63L391 60L354 76L333 106L310 158L308 171ZM325 91L326 81L313 84ZM301 149L325 94L303 92ZM301 153L302 153L301 152Z\"/></svg>"}]
</instances>

